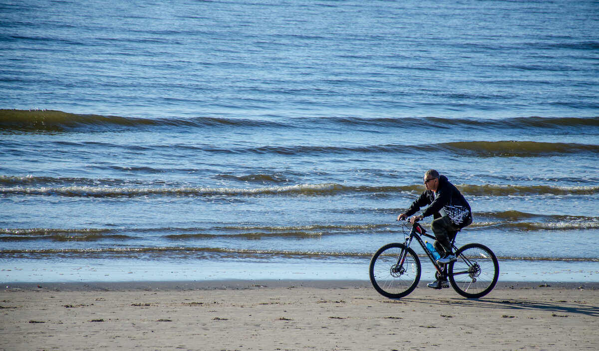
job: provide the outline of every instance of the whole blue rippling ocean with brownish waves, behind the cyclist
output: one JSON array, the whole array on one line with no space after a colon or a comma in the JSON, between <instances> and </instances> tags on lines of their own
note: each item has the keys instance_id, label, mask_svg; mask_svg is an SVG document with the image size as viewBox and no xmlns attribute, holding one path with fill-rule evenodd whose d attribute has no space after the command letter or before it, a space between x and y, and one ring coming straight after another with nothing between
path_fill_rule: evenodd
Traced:
<instances>
[{"instance_id":1,"label":"whole blue rippling ocean with brownish waves, behind the cyclist","mask_svg":"<svg viewBox=\"0 0 599 351\"><path fill-rule=\"evenodd\" d=\"M428 169L500 282L599 282L597 1L0 0L0 28L1 284L368 280Z\"/></svg>"}]
</instances>

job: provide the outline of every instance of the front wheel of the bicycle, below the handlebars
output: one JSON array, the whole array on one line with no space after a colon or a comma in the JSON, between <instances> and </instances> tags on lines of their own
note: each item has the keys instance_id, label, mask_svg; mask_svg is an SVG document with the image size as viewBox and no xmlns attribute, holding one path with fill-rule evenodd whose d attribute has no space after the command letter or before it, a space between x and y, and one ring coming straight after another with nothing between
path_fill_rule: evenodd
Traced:
<instances>
[{"instance_id":1,"label":"front wheel of the bicycle, below the handlebars","mask_svg":"<svg viewBox=\"0 0 599 351\"><path fill-rule=\"evenodd\" d=\"M416 288L419 280L420 260L404 244L387 244L370 260L370 282L385 297L404 297Z\"/></svg>"}]
</instances>

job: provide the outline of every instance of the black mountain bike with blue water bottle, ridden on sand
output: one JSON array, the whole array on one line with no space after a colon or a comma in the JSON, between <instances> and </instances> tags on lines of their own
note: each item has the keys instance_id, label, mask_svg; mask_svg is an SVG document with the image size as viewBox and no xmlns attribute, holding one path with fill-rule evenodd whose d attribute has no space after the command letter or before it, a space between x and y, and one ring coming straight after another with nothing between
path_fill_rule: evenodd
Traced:
<instances>
[{"instance_id":1,"label":"black mountain bike with blue water bottle, ridden on sand","mask_svg":"<svg viewBox=\"0 0 599 351\"><path fill-rule=\"evenodd\" d=\"M404 236L410 222L404 222ZM409 295L420 281L420 259L410 248L412 240L422 246L431 263L437 270L437 280L447 280L452 288L467 298L480 298L488 294L497 283L499 263L495 254L485 245L470 243L456 248L455 237L451 241L456 261L438 264L432 253L426 248L422 236L435 239L426 234L422 225L412 225L404 243L389 243L378 249L370 260L370 282L379 294L389 298L401 298Z\"/></svg>"}]
</instances>

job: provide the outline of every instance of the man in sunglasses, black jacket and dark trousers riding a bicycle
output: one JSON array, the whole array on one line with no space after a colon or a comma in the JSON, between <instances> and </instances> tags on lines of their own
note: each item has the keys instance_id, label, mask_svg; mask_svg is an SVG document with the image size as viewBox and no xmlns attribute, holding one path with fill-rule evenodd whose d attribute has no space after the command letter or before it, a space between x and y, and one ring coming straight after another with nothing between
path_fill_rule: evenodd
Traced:
<instances>
[{"instance_id":1,"label":"man in sunglasses, black jacket and dark trousers riding a bicycle","mask_svg":"<svg viewBox=\"0 0 599 351\"><path fill-rule=\"evenodd\" d=\"M414 224L422 218L432 215L432 232L435 234L435 249L441 255L437 263L447 264L456 260L452 252L451 240L453 240L462 228L472 223L472 212L470 205L455 185L451 184L447 177L430 169L424 173L424 186L426 188L418 200L401 215L397 220L408 218L420 210L420 207L428 205L422 215L413 216L409 219ZM437 280L427 285L429 288L447 288L447 280Z\"/></svg>"}]
</instances>

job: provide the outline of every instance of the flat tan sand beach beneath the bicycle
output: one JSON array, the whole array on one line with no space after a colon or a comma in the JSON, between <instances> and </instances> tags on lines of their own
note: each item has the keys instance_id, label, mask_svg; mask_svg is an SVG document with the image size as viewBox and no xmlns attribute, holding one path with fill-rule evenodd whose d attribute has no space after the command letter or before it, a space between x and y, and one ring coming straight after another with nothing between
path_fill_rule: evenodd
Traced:
<instances>
[{"instance_id":1,"label":"flat tan sand beach beneath the bicycle","mask_svg":"<svg viewBox=\"0 0 599 351\"><path fill-rule=\"evenodd\" d=\"M390 300L347 281L10 285L0 349L597 350L597 288L500 282L468 300L421 283Z\"/></svg>"}]
</instances>

